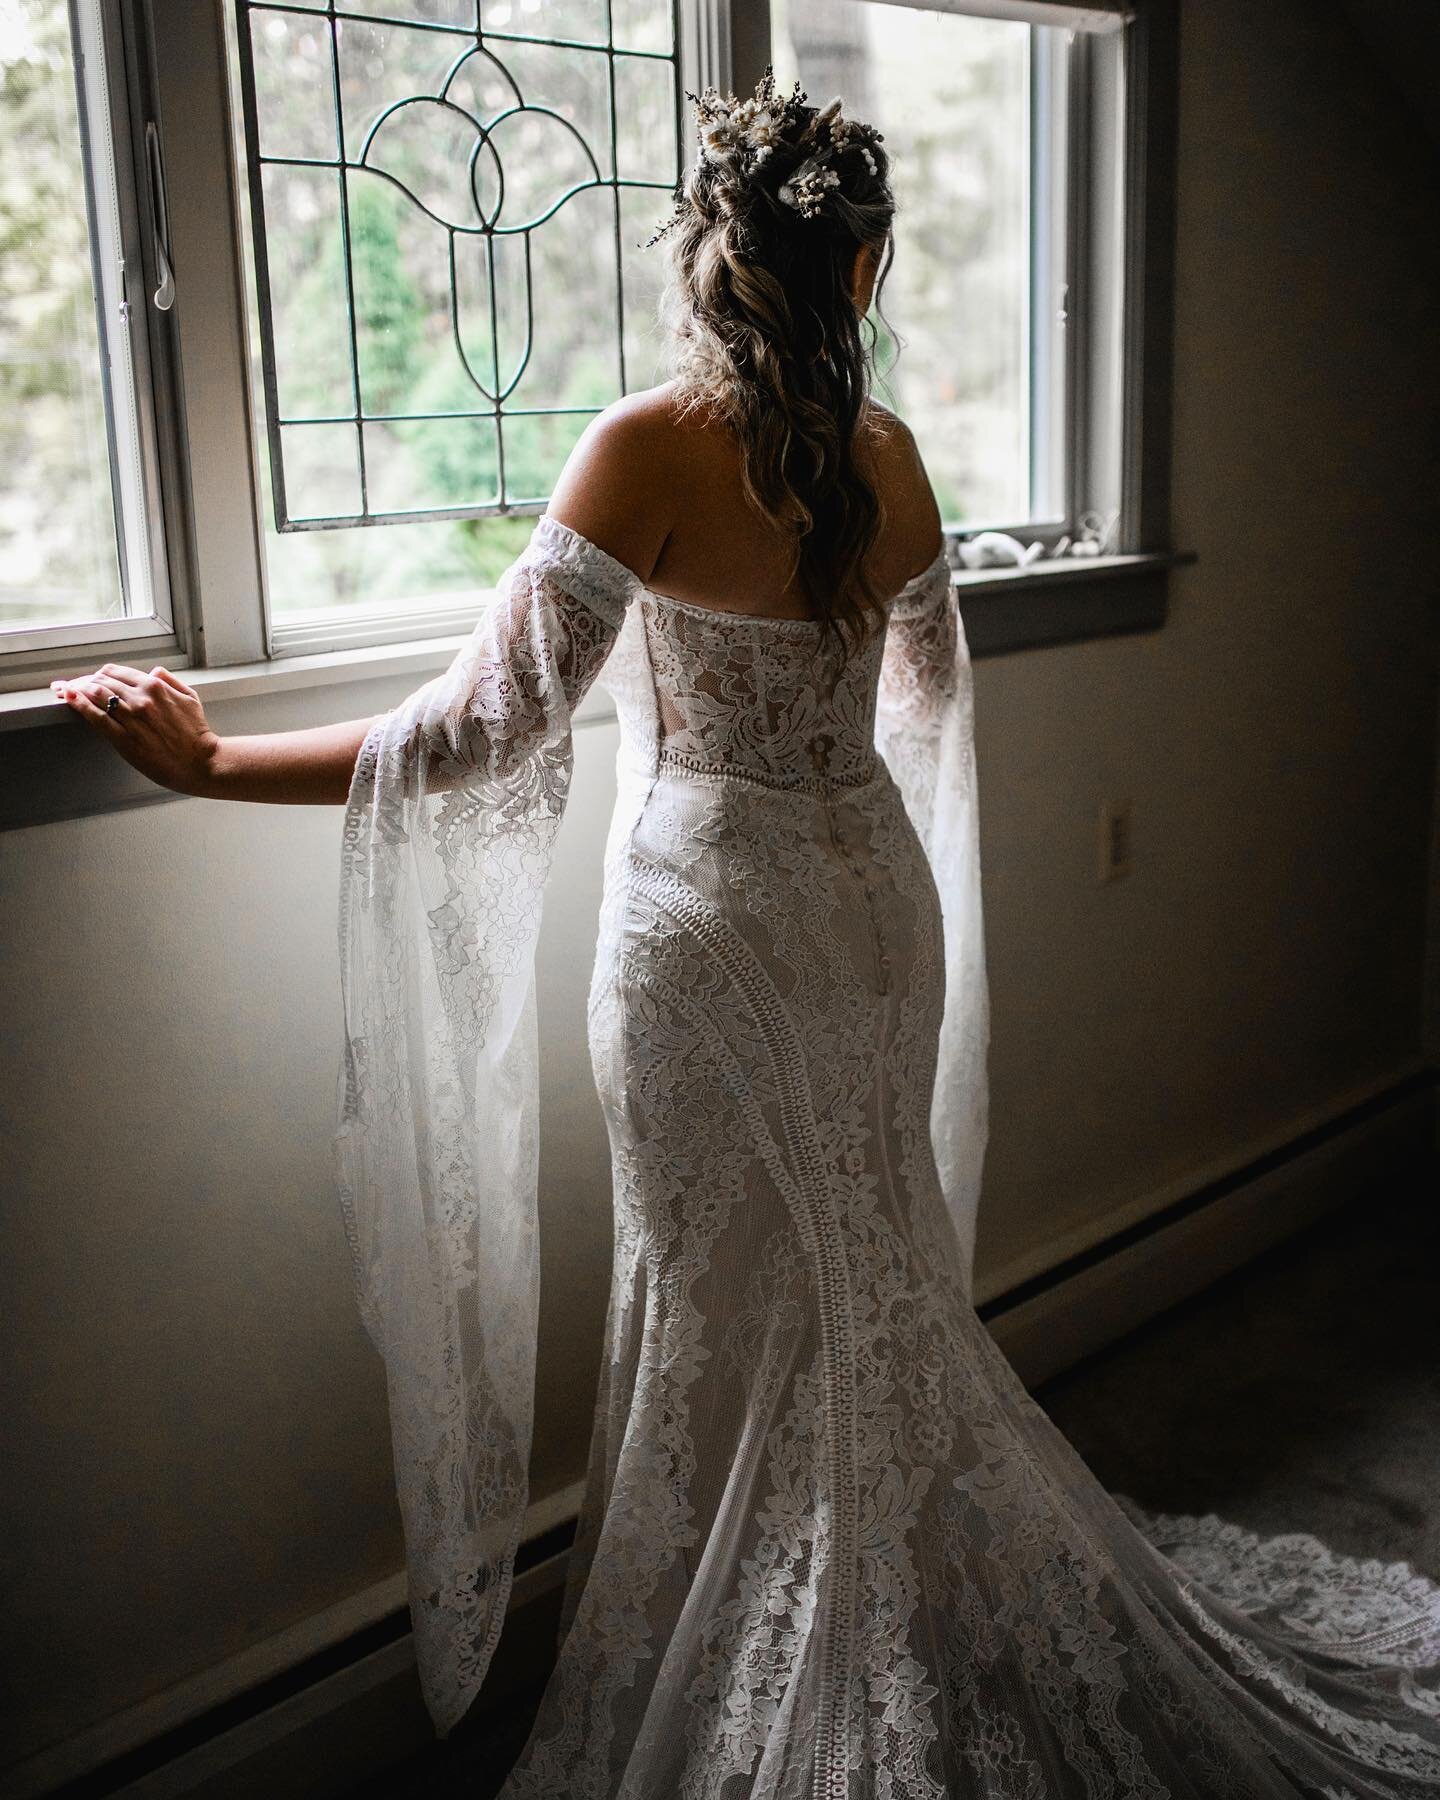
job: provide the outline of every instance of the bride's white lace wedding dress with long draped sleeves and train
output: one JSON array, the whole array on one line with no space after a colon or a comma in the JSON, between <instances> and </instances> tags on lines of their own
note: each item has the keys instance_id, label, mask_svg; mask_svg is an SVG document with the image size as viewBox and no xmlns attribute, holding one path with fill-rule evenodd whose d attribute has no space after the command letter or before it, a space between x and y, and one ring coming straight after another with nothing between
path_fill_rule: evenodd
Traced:
<instances>
[{"instance_id":1,"label":"bride's white lace wedding dress with long draped sleeves and train","mask_svg":"<svg viewBox=\"0 0 1440 1800\"><path fill-rule=\"evenodd\" d=\"M614 1282L506 1800L1440 1795L1440 1589L1109 1496L970 1305L988 1024L943 560L842 664L549 517L367 736L344 828L337 1152L441 1733L527 1498L533 952L601 666Z\"/></svg>"}]
</instances>

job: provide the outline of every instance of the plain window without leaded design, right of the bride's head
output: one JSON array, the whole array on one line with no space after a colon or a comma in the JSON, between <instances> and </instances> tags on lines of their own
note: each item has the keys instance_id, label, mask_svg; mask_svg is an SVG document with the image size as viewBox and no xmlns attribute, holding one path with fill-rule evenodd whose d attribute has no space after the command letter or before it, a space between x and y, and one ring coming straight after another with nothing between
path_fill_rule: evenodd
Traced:
<instances>
[{"instance_id":1,"label":"plain window without leaded design, right of the bride's head","mask_svg":"<svg viewBox=\"0 0 1440 1800\"><path fill-rule=\"evenodd\" d=\"M846 95L895 160L882 306L904 347L896 360L882 328L878 365L893 364L882 391L916 434L945 527L1053 547L1107 504L1114 479L1087 459L1078 423L1087 369L1107 362L1102 335L1120 317L1121 238L1100 218L1118 194L1085 194L1096 137L1120 126L1100 104L1100 65L1114 81L1120 36L1013 16L1026 13L1064 16L983 0L770 5L783 81L799 77L817 101ZM1103 223L1109 266L1085 265L1080 236L1094 245Z\"/></svg>"}]
</instances>

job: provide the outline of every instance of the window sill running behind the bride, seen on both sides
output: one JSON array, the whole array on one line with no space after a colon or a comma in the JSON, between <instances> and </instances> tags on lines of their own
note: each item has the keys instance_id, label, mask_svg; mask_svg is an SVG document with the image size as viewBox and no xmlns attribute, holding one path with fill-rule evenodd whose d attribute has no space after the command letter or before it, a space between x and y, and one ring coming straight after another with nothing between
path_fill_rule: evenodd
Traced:
<instances>
[{"instance_id":1,"label":"window sill running behind the bride, seen on both sides","mask_svg":"<svg viewBox=\"0 0 1440 1800\"><path fill-rule=\"evenodd\" d=\"M1193 553L1096 556L1031 563L1028 569L954 572L970 655L1004 655L1165 623L1170 569ZM292 731L380 713L437 675L468 632L270 657L212 670L185 670L221 733ZM612 713L601 693L585 697L576 724ZM29 727L29 729L27 729ZM0 832L180 799L115 756L49 688L0 693L5 781Z\"/></svg>"}]
</instances>

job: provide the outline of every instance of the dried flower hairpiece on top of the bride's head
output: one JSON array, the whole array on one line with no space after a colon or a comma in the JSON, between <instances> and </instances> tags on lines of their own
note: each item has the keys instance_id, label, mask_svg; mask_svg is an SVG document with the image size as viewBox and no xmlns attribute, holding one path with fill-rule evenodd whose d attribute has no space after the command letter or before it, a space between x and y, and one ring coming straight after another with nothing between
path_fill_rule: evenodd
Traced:
<instances>
[{"instance_id":1,"label":"dried flower hairpiece on top of the bride's head","mask_svg":"<svg viewBox=\"0 0 1440 1800\"><path fill-rule=\"evenodd\" d=\"M749 99L722 95L718 88L706 88L702 94L686 92L686 99L695 101L700 162L722 164L738 175L754 175L778 148L808 148L808 155L776 191L778 198L794 207L801 218L821 214L830 191L841 185L841 173L833 167L833 158L841 151L859 148L869 173L878 173L873 146L884 142L884 133L855 119L844 119L839 97L806 119L810 103L799 81L788 95L781 95L772 67L765 68ZM643 248L648 250L671 232L688 203L684 184L677 184L675 211Z\"/></svg>"}]
</instances>

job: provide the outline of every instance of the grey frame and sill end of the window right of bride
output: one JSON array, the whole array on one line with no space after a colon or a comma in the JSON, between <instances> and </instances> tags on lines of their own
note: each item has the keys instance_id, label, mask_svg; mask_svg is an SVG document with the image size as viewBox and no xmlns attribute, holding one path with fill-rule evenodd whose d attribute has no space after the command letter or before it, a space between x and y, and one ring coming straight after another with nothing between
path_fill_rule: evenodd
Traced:
<instances>
[{"instance_id":1,"label":"grey frame and sill end of the window right of bride","mask_svg":"<svg viewBox=\"0 0 1440 1800\"><path fill-rule=\"evenodd\" d=\"M857 0L864 4L864 0ZM923 4L923 0L902 0ZM1120 13L1112 32L1076 29L1067 121L1067 518L963 526L1053 549L1085 513L1116 515L1111 554L1042 556L1026 569L958 569L974 655L999 655L1165 623L1168 571L1193 562L1170 536L1175 113L1179 0L929 0L936 11L1030 16ZM733 0L734 81L769 61L769 0Z\"/></svg>"}]
</instances>

